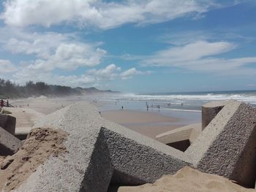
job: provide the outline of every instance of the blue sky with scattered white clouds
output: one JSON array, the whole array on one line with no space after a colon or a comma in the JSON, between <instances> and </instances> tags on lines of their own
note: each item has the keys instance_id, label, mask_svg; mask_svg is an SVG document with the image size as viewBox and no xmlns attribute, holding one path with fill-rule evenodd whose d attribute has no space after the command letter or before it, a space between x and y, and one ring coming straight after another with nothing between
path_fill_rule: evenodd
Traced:
<instances>
[{"instance_id":1,"label":"blue sky with scattered white clouds","mask_svg":"<svg viewBox=\"0 0 256 192\"><path fill-rule=\"evenodd\" d=\"M0 77L123 93L256 90L255 0L1 0Z\"/></svg>"}]
</instances>

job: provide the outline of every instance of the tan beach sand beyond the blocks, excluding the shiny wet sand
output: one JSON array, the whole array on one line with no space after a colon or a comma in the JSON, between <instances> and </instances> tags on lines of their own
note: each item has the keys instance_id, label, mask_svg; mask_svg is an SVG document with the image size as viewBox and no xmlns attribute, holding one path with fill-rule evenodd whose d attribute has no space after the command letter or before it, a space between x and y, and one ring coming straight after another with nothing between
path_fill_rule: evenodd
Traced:
<instances>
[{"instance_id":1,"label":"tan beach sand beyond the blocks, excluding the shiny wet sand","mask_svg":"<svg viewBox=\"0 0 256 192\"><path fill-rule=\"evenodd\" d=\"M10 103L17 108L10 108L12 115L17 118L17 131L25 129L29 130L34 125L34 120L38 120L43 115L48 115L69 104L80 101L80 97L66 98L48 98L39 96L28 99L14 99ZM104 101L91 102L97 107L104 106ZM172 118L167 115L162 115L159 112L142 112L138 110L105 110L101 112L102 117L112 120L115 123L121 124L127 128L137 131L140 134L155 138L158 134L165 131L173 130L182 126L181 118ZM36 117L36 118L35 118ZM178 125L177 125L178 124Z\"/></svg>"}]
</instances>

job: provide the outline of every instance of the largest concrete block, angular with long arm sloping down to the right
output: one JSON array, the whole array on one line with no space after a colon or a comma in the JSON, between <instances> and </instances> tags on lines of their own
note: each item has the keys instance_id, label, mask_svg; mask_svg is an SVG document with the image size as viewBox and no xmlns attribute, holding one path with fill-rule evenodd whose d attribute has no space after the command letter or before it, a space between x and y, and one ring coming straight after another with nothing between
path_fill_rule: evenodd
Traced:
<instances>
[{"instance_id":1,"label":"largest concrete block, angular with long arm sloping down to the right","mask_svg":"<svg viewBox=\"0 0 256 192\"><path fill-rule=\"evenodd\" d=\"M107 191L108 185L153 182L189 164L187 155L105 120L86 102L47 115L35 127L67 132L68 153L50 157L16 191Z\"/></svg>"}]
</instances>

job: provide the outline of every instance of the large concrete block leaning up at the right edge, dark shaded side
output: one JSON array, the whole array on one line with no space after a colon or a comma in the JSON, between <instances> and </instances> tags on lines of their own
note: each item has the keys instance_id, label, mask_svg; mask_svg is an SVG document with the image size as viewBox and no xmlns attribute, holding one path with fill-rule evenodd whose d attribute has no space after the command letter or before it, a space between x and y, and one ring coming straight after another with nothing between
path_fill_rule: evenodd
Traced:
<instances>
[{"instance_id":1,"label":"large concrete block leaning up at the right edge, dark shaded side","mask_svg":"<svg viewBox=\"0 0 256 192\"><path fill-rule=\"evenodd\" d=\"M203 172L219 174L254 186L256 170L256 110L229 101L186 153Z\"/></svg>"}]
</instances>

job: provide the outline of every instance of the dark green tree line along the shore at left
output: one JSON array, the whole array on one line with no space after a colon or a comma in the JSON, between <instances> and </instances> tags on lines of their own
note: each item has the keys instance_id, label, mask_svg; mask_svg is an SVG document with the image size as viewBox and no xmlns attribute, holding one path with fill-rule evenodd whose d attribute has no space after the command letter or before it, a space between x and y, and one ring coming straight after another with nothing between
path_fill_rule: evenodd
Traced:
<instances>
[{"instance_id":1,"label":"dark green tree line along the shore at left","mask_svg":"<svg viewBox=\"0 0 256 192\"><path fill-rule=\"evenodd\" d=\"M26 82L26 85L18 85L10 80L0 78L1 98L18 98L29 96L70 96L80 95L83 88L71 88L63 85L48 85L45 82Z\"/></svg>"}]
</instances>

